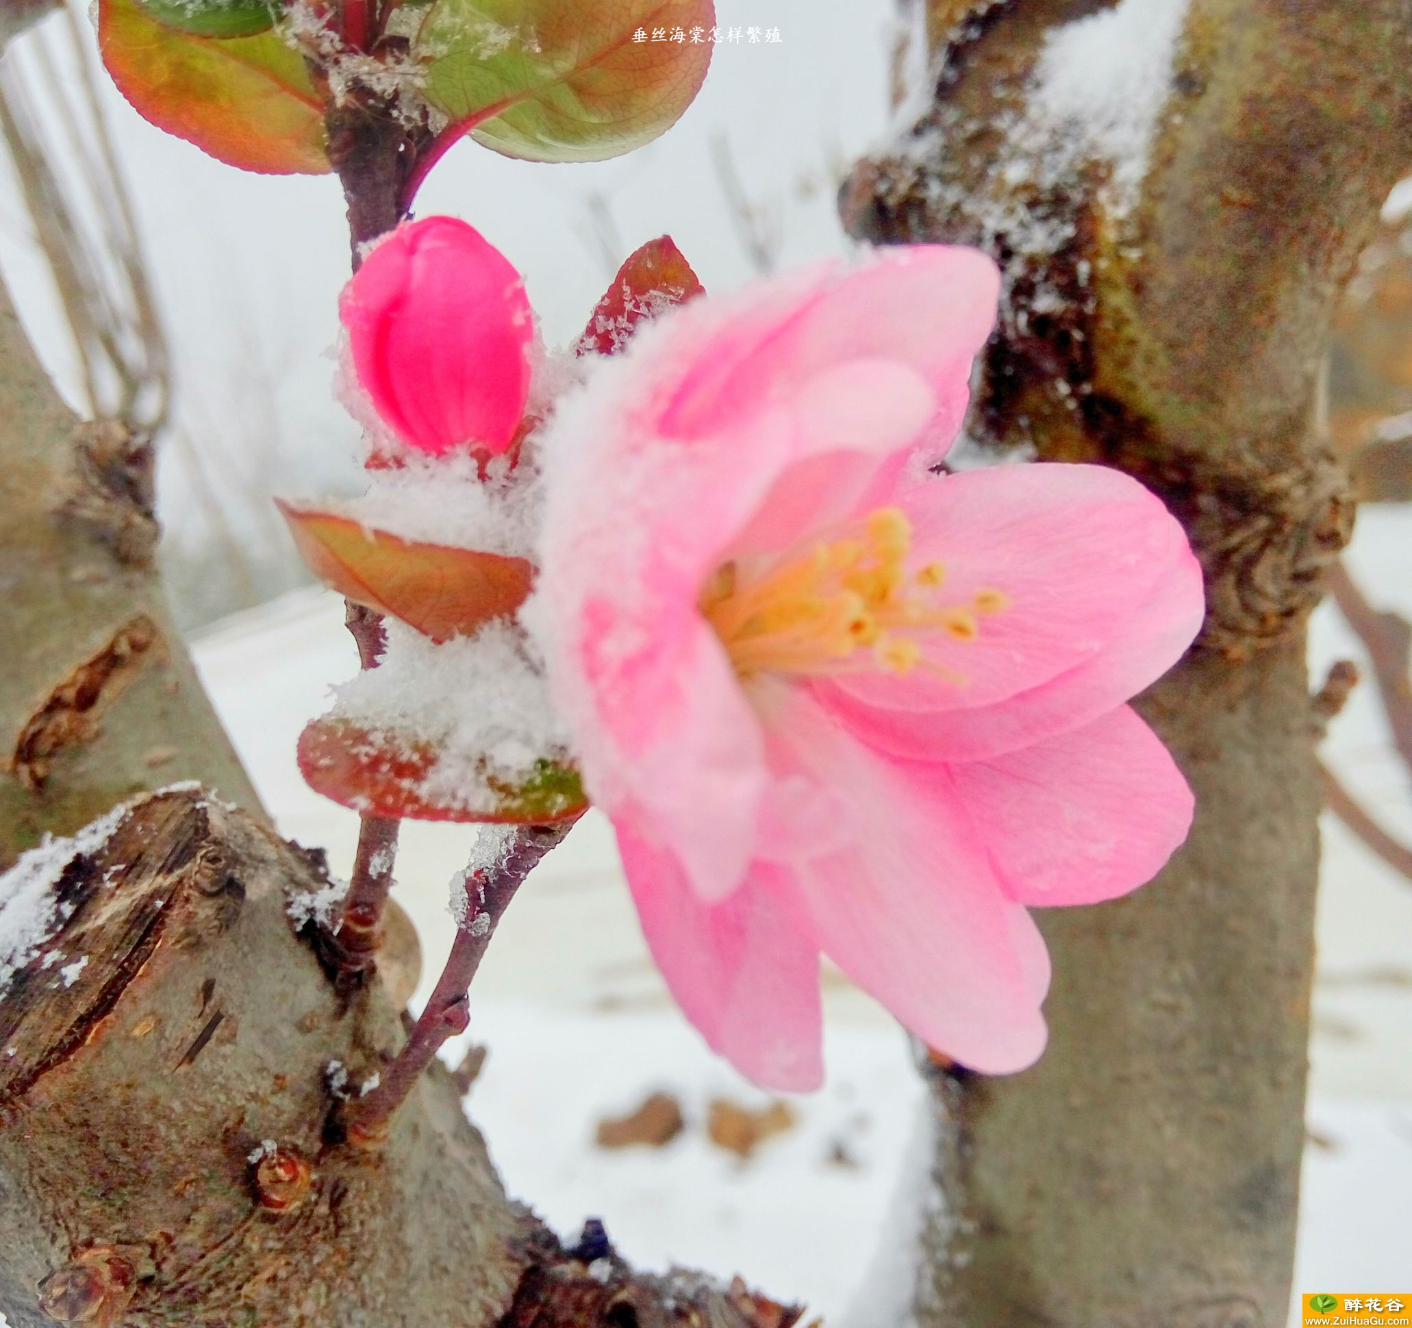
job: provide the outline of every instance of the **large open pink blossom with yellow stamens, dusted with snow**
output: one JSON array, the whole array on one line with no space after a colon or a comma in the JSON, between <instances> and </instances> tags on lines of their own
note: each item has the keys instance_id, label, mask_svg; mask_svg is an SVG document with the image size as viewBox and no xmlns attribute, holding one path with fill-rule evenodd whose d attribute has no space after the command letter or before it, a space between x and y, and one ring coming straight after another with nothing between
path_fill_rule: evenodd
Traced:
<instances>
[{"instance_id":1,"label":"large open pink blossom with yellow stamens, dusted with snow","mask_svg":"<svg viewBox=\"0 0 1412 1328\"><path fill-rule=\"evenodd\" d=\"M1029 908L1113 899L1192 795L1123 702L1203 612L1178 523L1097 466L926 473L995 315L891 250L645 331L545 446L530 622L688 1017L822 1077L819 955L984 1072L1043 1050Z\"/></svg>"}]
</instances>

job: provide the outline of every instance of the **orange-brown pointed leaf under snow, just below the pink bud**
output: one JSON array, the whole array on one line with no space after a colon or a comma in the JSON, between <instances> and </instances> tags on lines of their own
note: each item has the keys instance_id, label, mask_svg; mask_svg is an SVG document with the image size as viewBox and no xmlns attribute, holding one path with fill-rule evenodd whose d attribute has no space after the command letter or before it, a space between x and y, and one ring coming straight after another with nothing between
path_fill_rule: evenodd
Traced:
<instances>
[{"instance_id":1,"label":"orange-brown pointed leaf under snow, just below the pink bud","mask_svg":"<svg viewBox=\"0 0 1412 1328\"><path fill-rule=\"evenodd\" d=\"M534 583L534 567L524 558L422 544L337 513L278 507L299 557L325 585L433 641L470 636L490 619L514 613Z\"/></svg>"}]
</instances>

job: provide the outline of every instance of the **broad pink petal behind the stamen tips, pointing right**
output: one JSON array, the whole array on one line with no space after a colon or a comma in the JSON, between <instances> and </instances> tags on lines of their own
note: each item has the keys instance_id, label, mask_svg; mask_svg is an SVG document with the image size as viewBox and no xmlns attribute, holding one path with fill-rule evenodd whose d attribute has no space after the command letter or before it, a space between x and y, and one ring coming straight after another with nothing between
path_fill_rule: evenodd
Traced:
<instances>
[{"instance_id":1,"label":"broad pink petal behind the stamen tips, pointing right","mask_svg":"<svg viewBox=\"0 0 1412 1328\"><path fill-rule=\"evenodd\" d=\"M894 709L969 709L1059 677L1118 639L1154 585L1192 557L1162 502L1107 466L905 478L894 502L912 523L915 564L945 568L939 605L1003 596L998 612L977 616L974 639L919 639L922 667L839 680Z\"/></svg>"}]
</instances>

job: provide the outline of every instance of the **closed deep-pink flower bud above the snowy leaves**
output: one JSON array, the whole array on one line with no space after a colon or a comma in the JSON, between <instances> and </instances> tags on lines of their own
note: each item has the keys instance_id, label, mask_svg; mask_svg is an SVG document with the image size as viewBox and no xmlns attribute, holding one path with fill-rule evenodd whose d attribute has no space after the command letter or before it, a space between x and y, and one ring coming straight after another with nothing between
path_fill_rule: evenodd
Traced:
<instances>
[{"instance_id":1,"label":"closed deep-pink flower bud above the snowy leaves","mask_svg":"<svg viewBox=\"0 0 1412 1328\"><path fill-rule=\"evenodd\" d=\"M513 442L530 394L530 301L508 260L465 222L400 226L343 288L339 315L374 408L432 456Z\"/></svg>"}]
</instances>

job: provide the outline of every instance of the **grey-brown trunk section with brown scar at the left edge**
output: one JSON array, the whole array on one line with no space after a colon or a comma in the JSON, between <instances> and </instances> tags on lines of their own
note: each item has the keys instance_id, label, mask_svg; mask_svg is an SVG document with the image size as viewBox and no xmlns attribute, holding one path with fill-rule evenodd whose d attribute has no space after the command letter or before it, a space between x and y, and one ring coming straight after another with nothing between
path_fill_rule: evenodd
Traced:
<instances>
[{"instance_id":1,"label":"grey-brown trunk section with brown scar at the left edge","mask_svg":"<svg viewBox=\"0 0 1412 1328\"><path fill-rule=\"evenodd\" d=\"M64 405L0 285L0 869L160 784L260 805L167 613L151 466Z\"/></svg>"}]
</instances>

